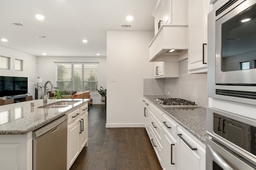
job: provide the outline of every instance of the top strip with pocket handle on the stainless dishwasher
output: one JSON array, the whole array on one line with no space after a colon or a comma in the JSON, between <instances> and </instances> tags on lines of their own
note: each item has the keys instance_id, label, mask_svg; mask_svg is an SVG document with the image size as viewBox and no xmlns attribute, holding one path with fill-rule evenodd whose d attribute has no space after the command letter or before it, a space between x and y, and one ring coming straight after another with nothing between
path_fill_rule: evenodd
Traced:
<instances>
[{"instance_id":1,"label":"top strip with pocket handle on the stainless dishwasher","mask_svg":"<svg viewBox=\"0 0 256 170\"><path fill-rule=\"evenodd\" d=\"M36 129L33 131L33 139L36 139L38 137L40 137L41 135L44 135L45 133L47 133L48 131L52 131L54 132L58 127L58 125L60 125L61 123L63 123L64 121L66 121L68 119L68 115L63 115L60 118L57 118L54 121L51 121L50 123L40 127L39 129ZM56 128L56 129L54 129Z\"/></svg>"}]
</instances>

